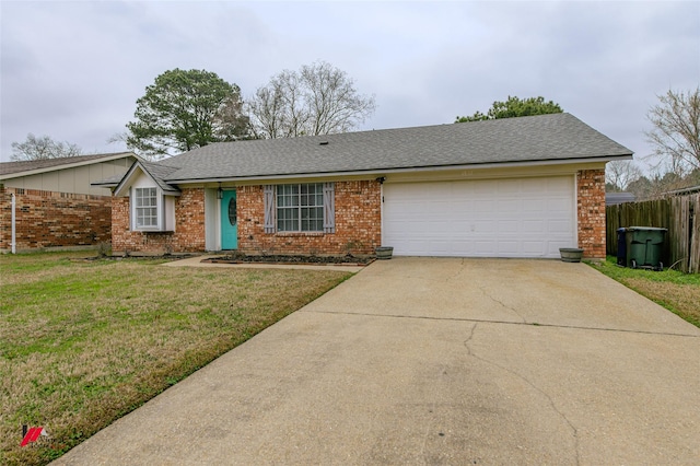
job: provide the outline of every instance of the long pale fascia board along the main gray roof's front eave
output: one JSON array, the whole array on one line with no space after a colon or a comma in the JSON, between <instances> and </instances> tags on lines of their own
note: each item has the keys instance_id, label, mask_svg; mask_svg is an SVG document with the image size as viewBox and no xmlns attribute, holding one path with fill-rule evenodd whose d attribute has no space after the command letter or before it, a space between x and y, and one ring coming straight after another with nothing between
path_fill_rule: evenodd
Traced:
<instances>
[{"instance_id":1,"label":"long pale fascia board along the main gray roof's front eave","mask_svg":"<svg viewBox=\"0 0 700 466\"><path fill-rule=\"evenodd\" d=\"M319 172L319 173L294 173L289 175L261 175L261 176L241 176L241 177L222 177L222 178L197 178L197 179L167 179L171 185L187 185L201 183L226 183L226 182L269 182L275 179L305 179L305 178L338 178L345 176L383 176L392 173L415 173L415 172L444 172L454 170L480 170L480 168L511 168L520 166L551 166L551 165L580 165L586 163L607 163L615 160L631 160L632 154L610 155L602 158L588 159L567 159L550 161L532 161L532 162L504 162L504 163L477 163L464 165L441 165L441 166L419 166L409 168L376 168L355 172Z\"/></svg>"}]
</instances>

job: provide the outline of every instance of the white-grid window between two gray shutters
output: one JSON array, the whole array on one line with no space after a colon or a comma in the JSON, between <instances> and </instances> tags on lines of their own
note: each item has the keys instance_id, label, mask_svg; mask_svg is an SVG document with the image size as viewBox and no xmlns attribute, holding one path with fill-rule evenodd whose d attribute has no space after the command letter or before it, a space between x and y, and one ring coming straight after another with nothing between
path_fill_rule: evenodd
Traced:
<instances>
[{"instance_id":1,"label":"white-grid window between two gray shutters","mask_svg":"<svg viewBox=\"0 0 700 466\"><path fill-rule=\"evenodd\" d=\"M277 231L324 231L323 183L277 186Z\"/></svg>"}]
</instances>

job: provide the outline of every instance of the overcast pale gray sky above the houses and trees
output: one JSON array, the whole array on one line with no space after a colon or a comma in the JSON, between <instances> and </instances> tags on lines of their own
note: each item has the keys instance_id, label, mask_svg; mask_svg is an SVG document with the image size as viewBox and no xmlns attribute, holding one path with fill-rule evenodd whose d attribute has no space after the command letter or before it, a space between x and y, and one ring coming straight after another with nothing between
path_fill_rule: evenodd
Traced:
<instances>
[{"instance_id":1,"label":"overcast pale gray sky above the houses and trees","mask_svg":"<svg viewBox=\"0 0 700 466\"><path fill-rule=\"evenodd\" d=\"M156 75L203 69L244 98L325 60L377 108L359 129L451 124L544 96L640 159L646 112L700 84L700 2L7 1L1 152L27 133L84 153L133 119Z\"/></svg>"}]
</instances>

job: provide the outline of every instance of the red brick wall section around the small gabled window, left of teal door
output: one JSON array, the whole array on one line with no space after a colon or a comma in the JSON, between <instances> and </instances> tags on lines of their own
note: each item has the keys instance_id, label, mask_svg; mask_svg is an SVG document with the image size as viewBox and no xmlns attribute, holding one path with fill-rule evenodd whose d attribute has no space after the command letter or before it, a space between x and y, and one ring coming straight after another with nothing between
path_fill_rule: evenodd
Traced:
<instances>
[{"instance_id":1,"label":"red brick wall section around the small gabled window, left of teal door","mask_svg":"<svg viewBox=\"0 0 700 466\"><path fill-rule=\"evenodd\" d=\"M183 189L175 201L174 232L131 231L129 198L114 198L112 249L122 253L198 253L205 251L205 189Z\"/></svg>"}]
</instances>

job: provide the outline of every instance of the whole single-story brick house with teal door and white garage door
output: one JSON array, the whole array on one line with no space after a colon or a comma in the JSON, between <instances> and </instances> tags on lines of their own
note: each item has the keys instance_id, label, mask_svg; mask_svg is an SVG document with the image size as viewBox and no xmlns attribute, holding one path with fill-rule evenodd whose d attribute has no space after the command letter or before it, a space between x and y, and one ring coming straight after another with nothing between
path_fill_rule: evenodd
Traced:
<instances>
[{"instance_id":1,"label":"whole single-story brick house with teal door and white garage door","mask_svg":"<svg viewBox=\"0 0 700 466\"><path fill-rule=\"evenodd\" d=\"M602 259L631 158L570 114L215 143L113 184L113 249Z\"/></svg>"}]
</instances>

